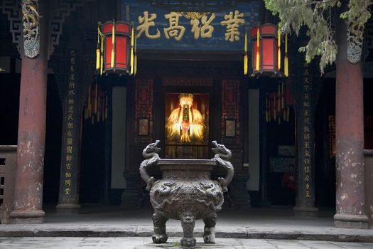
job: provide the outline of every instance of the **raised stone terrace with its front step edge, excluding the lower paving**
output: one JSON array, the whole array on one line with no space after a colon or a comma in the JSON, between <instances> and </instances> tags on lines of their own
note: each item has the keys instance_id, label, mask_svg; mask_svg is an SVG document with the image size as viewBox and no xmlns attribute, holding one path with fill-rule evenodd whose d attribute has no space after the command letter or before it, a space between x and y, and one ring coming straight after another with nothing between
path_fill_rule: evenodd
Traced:
<instances>
[{"instance_id":1,"label":"raised stone terrace with its front step edge, excluding the lower paving","mask_svg":"<svg viewBox=\"0 0 373 249\"><path fill-rule=\"evenodd\" d=\"M0 237L102 237L104 240L104 237L150 238L153 235L150 208L123 210L116 206L88 206L81 208L77 215L59 215L53 210L45 213L43 224L0 225ZM217 214L216 237L373 243L373 229L335 228L333 212L320 210L316 214L316 217L297 216L290 208L223 209ZM203 227L202 220L195 222L196 238L202 238ZM169 220L166 232L168 237L181 237L180 221Z\"/></svg>"}]
</instances>

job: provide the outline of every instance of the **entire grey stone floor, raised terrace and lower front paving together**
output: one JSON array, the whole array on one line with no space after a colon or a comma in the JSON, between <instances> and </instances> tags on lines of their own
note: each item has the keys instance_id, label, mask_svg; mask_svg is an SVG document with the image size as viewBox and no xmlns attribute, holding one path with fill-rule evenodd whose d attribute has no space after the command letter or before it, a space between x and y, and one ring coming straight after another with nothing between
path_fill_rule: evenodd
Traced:
<instances>
[{"instance_id":1,"label":"entire grey stone floor, raised terrace and lower front paving together","mask_svg":"<svg viewBox=\"0 0 373 249\"><path fill-rule=\"evenodd\" d=\"M0 249L176 249L180 221L167 222L168 243L151 243L151 208L83 206L79 214L47 209L45 223L0 225ZM373 229L335 228L333 211L298 216L291 208L223 209L218 213L216 244L205 245L202 221L195 223L195 249L373 249Z\"/></svg>"}]
</instances>

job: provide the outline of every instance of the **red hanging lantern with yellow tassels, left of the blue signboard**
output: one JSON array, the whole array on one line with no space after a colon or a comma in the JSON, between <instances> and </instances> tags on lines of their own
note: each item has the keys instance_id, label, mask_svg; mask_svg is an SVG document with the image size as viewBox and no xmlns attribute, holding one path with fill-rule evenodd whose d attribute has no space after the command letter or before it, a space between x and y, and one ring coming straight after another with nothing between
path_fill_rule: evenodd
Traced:
<instances>
[{"instance_id":1,"label":"red hanging lantern with yellow tassels, left of the blue signboard","mask_svg":"<svg viewBox=\"0 0 373 249\"><path fill-rule=\"evenodd\" d=\"M100 73L133 74L134 27L123 21L108 21L98 28L97 63Z\"/></svg>"}]
</instances>

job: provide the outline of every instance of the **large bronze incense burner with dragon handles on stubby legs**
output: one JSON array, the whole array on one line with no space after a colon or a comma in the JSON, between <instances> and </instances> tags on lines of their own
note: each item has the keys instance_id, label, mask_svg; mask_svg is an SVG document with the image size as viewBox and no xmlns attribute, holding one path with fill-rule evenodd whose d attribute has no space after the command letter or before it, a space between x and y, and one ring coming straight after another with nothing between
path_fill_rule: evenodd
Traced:
<instances>
[{"instance_id":1,"label":"large bronze incense burner with dragon handles on stubby legs","mask_svg":"<svg viewBox=\"0 0 373 249\"><path fill-rule=\"evenodd\" d=\"M198 219L205 223L205 243L215 243L216 213L222 209L223 192L227 191L234 174L228 161L232 153L224 145L213 141L215 157L212 159L161 159L158 143L159 140L144 149L146 159L140 164L141 178L146 181L146 189L150 190L154 208L153 243L166 243L166 221L169 218L181 221L183 238L180 243L183 247L195 246L193 230ZM146 168L153 165L159 166L162 179L156 181L146 172ZM225 178L219 177L217 181L211 179L211 172L216 166L227 171Z\"/></svg>"}]
</instances>

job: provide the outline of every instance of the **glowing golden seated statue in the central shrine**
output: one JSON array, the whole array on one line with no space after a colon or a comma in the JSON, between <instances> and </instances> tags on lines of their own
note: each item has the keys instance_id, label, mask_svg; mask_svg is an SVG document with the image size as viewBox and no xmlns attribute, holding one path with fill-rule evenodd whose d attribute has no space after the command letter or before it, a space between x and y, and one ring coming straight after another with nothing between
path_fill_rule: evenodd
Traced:
<instances>
[{"instance_id":1,"label":"glowing golden seated statue in the central shrine","mask_svg":"<svg viewBox=\"0 0 373 249\"><path fill-rule=\"evenodd\" d=\"M205 120L200 111L193 108L193 95L180 94L179 104L166 122L166 141L203 142Z\"/></svg>"}]
</instances>

